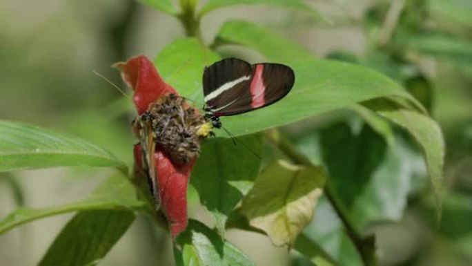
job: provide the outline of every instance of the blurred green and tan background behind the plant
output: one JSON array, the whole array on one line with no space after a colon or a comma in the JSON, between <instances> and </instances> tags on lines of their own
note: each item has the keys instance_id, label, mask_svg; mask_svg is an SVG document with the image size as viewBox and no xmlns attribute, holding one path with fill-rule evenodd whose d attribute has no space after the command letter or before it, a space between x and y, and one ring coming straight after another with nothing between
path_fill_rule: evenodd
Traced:
<instances>
[{"instance_id":1,"label":"blurred green and tan background behind the plant","mask_svg":"<svg viewBox=\"0 0 472 266\"><path fill-rule=\"evenodd\" d=\"M405 180L408 195L397 199L401 211L384 209L398 222L380 221L364 231L375 232L382 265L471 265L472 1L396 2L404 9L393 21L394 34L384 25L391 1L373 0L306 1L331 23L270 6L224 8L206 16L201 31L210 44L224 21L247 19L290 37L319 58L371 66L409 89L440 122L446 139L442 222L437 227L429 189L423 189L427 182L422 159L415 149L405 148L401 156L410 164L400 164L403 171L395 175ZM141 53L153 58L184 34L175 18L135 1L1 1L0 119L83 137L131 163L132 104L92 70L124 88L111 64ZM248 49L226 47L219 52L264 60ZM322 133L340 116L346 117L327 114L284 131L303 146L298 131L308 125ZM47 207L77 200L108 172L75 167L2 173L0 217L21 205ZM190 216L210 223L197 202L190 191ZM68 218L46 218L2 235L0 265L37 263ZM329 206L322 204L316 225L308 229L319 234L328 250L339 245L323 234L335 220ZM296 254L272 247L264 236L242 231L227 236L257 265L304 265ZM171 265L172 257L170 238L141 218L102 265Z\"/></svg>"}]
</instances>

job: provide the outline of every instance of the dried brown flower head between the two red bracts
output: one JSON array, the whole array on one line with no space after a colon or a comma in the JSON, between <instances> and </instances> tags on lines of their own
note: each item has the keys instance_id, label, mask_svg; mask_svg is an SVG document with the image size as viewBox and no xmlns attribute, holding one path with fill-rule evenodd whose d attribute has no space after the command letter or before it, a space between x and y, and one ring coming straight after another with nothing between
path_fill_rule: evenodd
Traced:
<instances>
[{"instance_id":1,"label":"dried brown flower head between the two red bracts","mask_svg":"<svg viewBox=\"0 0 472 266\"><path fill-rule=\"evenodd\" d=\"M211 126L204 117L173 93L151 104L132 125L141 143L152 137L155 146L176 164L186 164L196 158L200 153L200 143L211 134Z\"/></svg>"}]
</instances>

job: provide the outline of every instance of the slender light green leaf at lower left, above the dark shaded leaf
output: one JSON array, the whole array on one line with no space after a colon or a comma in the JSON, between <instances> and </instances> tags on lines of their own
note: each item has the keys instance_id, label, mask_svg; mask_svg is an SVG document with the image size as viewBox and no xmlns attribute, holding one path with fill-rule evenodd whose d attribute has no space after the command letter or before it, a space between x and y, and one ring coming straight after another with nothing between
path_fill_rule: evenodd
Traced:
<instances>
[{"instance_id":1,"label":"slender light green leaf at lower left, above the dark shaded leaf","mask_svg":"<svg viewBox=\"0 0 472 266\"><path fill-rule=\"evenodd\" d=\"M61 213L86 210L139 211L145 203L137 200L136 190L123 175L114 175L101 184L88 198L78 202L43 209L20 208L0 222L0 234L18 225Z\"/></svg>"}]
</instances>

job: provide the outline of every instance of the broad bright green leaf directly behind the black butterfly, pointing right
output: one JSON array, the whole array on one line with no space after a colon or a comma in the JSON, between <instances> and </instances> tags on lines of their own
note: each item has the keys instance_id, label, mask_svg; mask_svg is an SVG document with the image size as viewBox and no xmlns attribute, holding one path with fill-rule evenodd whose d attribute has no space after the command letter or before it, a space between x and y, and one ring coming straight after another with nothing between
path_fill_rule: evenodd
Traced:
<instances>
[{"instance_id":1,"label":"broad bright green leaf directly behind the black butterfly, pointing right","mask_svg":"<svg viewBox=\"0 0 472 266\"><path fill-rule=\"evenodd\" d=\"M391 79L362 66L324 60L286 63L295 71L292 91L277 104L224 117L226 129L235 135L253 133L377 97L397 96L417 103Z\"/></svg>"}]
</instances>

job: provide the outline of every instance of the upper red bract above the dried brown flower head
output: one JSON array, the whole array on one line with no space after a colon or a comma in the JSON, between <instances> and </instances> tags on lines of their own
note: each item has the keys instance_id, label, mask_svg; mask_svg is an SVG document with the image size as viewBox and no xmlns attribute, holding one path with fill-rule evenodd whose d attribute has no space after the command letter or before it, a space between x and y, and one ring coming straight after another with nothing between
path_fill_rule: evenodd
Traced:
<instances>
[{"instance_id":1,"label":"upper red bract above the dried brown flower head","mask_svg":"<svg viewBox=\"0 0 472 266\"><path fill-rule=\"evenodd\" d=\"M159 76L153 62L144 55L131 57L128 61L113 66L121 70L121 77L135 91L132 101L139 115L148 110L149 105L156 102L161 95L177 94L174 88Z\"/></svg>"}]
</instances>

